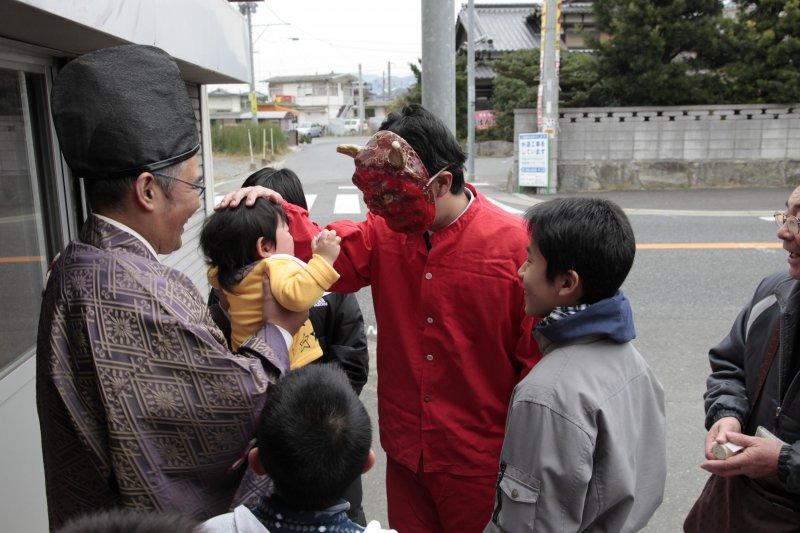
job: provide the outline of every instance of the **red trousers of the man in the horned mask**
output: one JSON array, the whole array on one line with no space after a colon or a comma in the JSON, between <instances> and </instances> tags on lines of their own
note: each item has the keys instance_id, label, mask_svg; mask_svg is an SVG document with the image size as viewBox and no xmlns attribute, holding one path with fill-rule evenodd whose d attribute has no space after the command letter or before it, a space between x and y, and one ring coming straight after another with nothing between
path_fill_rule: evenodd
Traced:
<instances>
[{"instance_id":1,"label":"red trousers of the man in the horned mask","mask_svg":"<svg viewBox=\"0 0 800 533\"><path fill-rule=\"evenodd\" d=\"M402 533L480 533L492 517L497 476L414 472L386 458L389 527Z\"/></svg>"}]
</instances>

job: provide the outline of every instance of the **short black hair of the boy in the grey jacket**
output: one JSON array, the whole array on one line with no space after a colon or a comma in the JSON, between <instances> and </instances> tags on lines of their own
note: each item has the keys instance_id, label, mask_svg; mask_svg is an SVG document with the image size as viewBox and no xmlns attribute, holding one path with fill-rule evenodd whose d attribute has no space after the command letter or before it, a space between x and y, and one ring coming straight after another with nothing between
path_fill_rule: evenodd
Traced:
<instances>
[{"instance_id":1,"label":"short black hair of the boy in the grey jacket","mask_svg":"<svg viewBox=\"0 0 800 533\"><path fill-rule=\"evenodd\" d=\"M547 261L547 279L574 270L583 283L581 302L616 294L633 265L636 241L628 217L602 198L557 198L525 213L533 242Z\"/></svg>"}]
</instances>

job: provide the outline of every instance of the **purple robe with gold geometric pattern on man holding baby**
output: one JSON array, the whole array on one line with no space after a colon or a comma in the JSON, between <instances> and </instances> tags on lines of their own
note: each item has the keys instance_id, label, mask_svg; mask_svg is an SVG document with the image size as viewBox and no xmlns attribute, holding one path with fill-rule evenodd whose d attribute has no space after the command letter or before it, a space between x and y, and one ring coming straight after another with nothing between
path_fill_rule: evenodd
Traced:
<instances>
[{"instance_id":1,"label":"purple robe with gold geometric pattern on man holding baby","mask_svg":"<svg viewBox=\"0 0 800 533\"><path fill-rule=\"evenodd\" d=\"M289 367L280 332L230 353L194 284L132 235L90 217L67 246L36 359L51 528L112 506L204 519L264 490L250 480L235 496L231 466Z\"/></svg>"}]
</instances>

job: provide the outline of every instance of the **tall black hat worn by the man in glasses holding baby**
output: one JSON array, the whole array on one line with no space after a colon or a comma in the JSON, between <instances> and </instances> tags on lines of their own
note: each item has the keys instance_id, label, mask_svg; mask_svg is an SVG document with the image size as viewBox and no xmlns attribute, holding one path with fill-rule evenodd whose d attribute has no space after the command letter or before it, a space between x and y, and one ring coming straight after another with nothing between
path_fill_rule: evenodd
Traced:
<instances>
[{"instance_id":1,"label":"tall black hat worn by the man in glasses holding baby","mask_svg":"<svg viewBox=\"0 0 800 533\"><path fill-rule=\"evenodd\" d=\"M186 85L160 48L85 54L61 70L51 98L61 151L77 177L135 176L200 149Z\"/></svg>"}]
</instances>

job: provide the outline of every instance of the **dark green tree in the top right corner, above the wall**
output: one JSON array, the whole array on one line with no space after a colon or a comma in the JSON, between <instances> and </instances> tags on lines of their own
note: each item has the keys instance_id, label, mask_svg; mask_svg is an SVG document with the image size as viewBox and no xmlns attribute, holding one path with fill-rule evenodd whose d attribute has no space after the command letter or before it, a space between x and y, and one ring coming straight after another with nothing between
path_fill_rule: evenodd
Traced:
<instances>
[{"instance_id":1,"label":"dark green tree in the top right corner, above the wall","mask_svg":"<svg viewBox=\"0 0 800 533\"><path fill-rule=\"evenodd\" d=\"M800 0L737 0L723 67L731 103L800 101Z\"/></svg>"}]
</instances>

